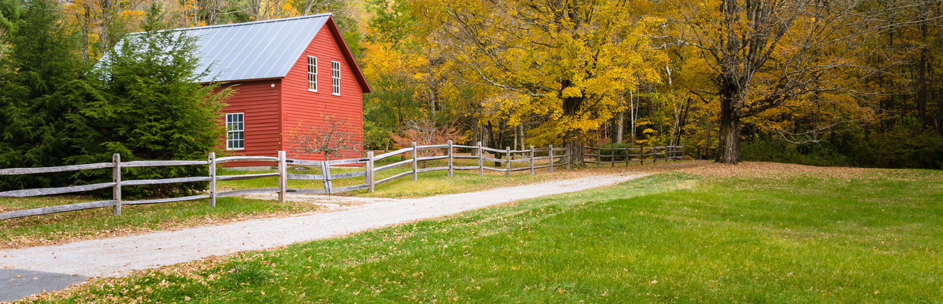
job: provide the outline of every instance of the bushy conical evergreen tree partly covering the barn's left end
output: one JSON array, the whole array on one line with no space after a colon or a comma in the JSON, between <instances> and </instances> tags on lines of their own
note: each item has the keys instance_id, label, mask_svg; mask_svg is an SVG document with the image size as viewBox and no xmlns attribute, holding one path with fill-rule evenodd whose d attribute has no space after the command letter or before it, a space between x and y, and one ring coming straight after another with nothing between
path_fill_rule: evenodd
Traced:
<instances>
[{"instance_id":1,"label":"bushy conical evergreen tree partly covering the barn's left end","mask_svg":"<svg viewBox=\"0 0 943 304\"><path fill-rule=\"evenodd\" d=\"M223 100L229 90L214 93L219 84L203 85L196 38L180 31L159 31L159 9L149 12L142 33L128 35L102 59L82 82L89 104L83 119L94 130L84 153L74 163L109 161L191 160L217 149L224 129ZM125 179L159 179L207 174L206 166L131 168ZM206 184L165 184L129 189L132 194L171 196L190 194Z\"/></svg>"}]
</instances>

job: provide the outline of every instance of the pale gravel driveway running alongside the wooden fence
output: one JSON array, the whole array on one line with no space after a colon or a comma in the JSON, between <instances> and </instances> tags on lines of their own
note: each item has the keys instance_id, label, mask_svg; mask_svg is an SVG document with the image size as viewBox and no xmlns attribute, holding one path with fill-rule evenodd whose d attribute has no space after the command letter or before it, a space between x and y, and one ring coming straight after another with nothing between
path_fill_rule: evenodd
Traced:
<instances>
[{"instance_id":1,"label":"pale gravel driveway running alongside the wooden fence","mask_svg":"<svg viewBox=\"0 0 943 304\"><path fill-rule=\"evenodd\" d=\"M194 261L243 250L275 248L297 242L363 232L423 218L447 216L514 200L619 184L650 173L617 173L543 184L422 199L360 199L323 196L312 200L337 211L259 218L172 232L155 232L59 246L0 250L0 268L35 270L79 277L122 276L135 269Z\"/></svg>"}]
</instances>

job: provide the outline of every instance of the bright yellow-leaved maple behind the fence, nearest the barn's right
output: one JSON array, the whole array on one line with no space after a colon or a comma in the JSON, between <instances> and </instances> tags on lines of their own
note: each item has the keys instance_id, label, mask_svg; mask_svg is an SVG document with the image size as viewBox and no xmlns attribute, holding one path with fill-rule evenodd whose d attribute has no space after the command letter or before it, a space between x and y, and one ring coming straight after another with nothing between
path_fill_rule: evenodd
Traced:
<instances>
[{"instance_id":1,"label":"bright yellow-leaved maple behind the fence, nearest the barn's right","mask_svg":"<svg viewBox=\"0 0 943 304\"><path fill-rule=\"evenodd\" d=\"M620 112L620 94L639 76L660 78L655 69L665 56L639 35L661 24L642 17L646 8L629 1L422 0L411 11L466 82L520 94L519 111L547 118L535 143L563 138L580 163L579 135Z\"/></svg>"}]
</instances>

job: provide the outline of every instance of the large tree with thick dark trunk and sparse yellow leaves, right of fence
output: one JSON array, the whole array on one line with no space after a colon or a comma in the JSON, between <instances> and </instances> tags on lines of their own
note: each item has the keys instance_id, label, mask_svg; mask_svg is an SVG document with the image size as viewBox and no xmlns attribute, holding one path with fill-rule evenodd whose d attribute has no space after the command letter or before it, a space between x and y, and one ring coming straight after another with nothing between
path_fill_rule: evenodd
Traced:
<instances>
[{"instance_id":1,"label":"large tree with thick dark trunk and sparse yellow leaves, right of fence","mask_svg":"<svg viewBox=\"0 0 943 304\"><path fill-rule=\"evenodd\" d=\"M920 21L912 1L700 0L666 2L668 42L694 48L710 68L704 75L720 96L718 162L740 161L740 128L746 118L773 110L803 113L834 104L835 120L873 117L877 104L861 98L879 88L864 80L900 64L878 43L896 28ZM877 60L882 59L882 60ZM875 64L875 62L879 62ZM780 132L786 132L779 129Z\"/></svg>"}]
</instances>

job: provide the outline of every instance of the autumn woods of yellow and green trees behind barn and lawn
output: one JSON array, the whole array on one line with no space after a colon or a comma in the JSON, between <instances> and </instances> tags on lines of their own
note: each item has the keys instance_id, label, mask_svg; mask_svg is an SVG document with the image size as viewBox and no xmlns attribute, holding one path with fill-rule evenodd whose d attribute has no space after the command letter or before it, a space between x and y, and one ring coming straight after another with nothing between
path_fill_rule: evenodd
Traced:
<instances>
[{"instance_id":1,"label":"autumn woods of yellow and green trees behind barn and lawn","mask_svg":"<svg viewBox=\"0 0 943 304\"><path fill-rule=\"evenodd\" d=\"M116 87L88 75L128 33L331 12L373 88L368 149L426 130L492 148L684 144L727 163L943 168L940 9L923 0L0 0L0 166L121 150L120 136L101 134L121 110L102 101L133 95L138 80ZM213 148L204 146L184 150ZM92 156L58 154L75 151Z\"/></svg>"}]
</instances>

